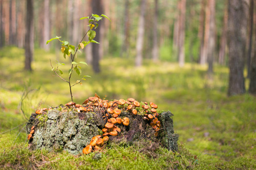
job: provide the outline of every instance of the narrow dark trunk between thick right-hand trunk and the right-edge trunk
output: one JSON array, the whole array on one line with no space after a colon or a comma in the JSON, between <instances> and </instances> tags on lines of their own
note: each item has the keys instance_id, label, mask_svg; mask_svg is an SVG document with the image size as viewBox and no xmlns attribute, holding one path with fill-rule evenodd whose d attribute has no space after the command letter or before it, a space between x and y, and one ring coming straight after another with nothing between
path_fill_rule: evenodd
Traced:
<instances>
[{"instance_id":1,"label":"narrow dark trunk between thick right-hand trunk and the right-edge trunk","mask_svg":"<svg viewBox=\"0 0 256 170\"><path fill-rule=\"evenodd\" d=\"M253 46L253 15L254 15L254 0L250 0L250 33L249 33L249 49L247 57L247 78L250 78L250 64L251 64L251 52Z\"/></svg>"}]
</instances>

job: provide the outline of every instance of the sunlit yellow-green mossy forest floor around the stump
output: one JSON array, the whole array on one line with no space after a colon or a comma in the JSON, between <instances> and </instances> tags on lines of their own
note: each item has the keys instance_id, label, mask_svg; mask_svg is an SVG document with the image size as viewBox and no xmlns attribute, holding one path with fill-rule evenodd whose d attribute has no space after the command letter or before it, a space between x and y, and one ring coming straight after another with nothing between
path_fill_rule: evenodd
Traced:
<instances>
[{"instance_id":1,"label":"sunlit yellow-green mossy forest floor around the stump","mask_svg":"<svg viewBox=\"0 0 256 170\"><path fill-rule=\"evenodd\" d=\"M54 63L55 53L35 50L32 73L23 70L23 53L18 48L0 50L0 168L256 169L256 97L226 96L228 68L215 66L209 80L207 67L196 64L180 69L176 63L144 61L142 67L135 68L133 59L121 58L103 59L100 74L82 66L82 75L92 78L73 87L75 102L81 104L95 92L109 100L134 97L154 101L159 109L175 115L179 152L158 148L155 156L148 156L139 151L140 145L113 145L102 151L98 160L95 153L73 156L29 151L26 119L20 111L24 89L31 91L23 100L26 117L38 107L56 107L71 99L68 84L51 71L49 58ZM61 67L66 76L68 69L68 65ZM75 75L74 82L77 79Z\"/></svg>"}]
</instances>

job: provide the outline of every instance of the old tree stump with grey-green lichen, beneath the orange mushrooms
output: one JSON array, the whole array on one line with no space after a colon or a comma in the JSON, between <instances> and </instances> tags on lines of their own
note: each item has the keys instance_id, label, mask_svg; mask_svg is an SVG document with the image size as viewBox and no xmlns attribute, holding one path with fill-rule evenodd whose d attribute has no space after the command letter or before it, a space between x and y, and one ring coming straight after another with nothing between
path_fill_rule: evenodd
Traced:
<instances>
[{"instance_id":1,"label":"old tree stump with grey-green lichen, beneath the orange mushrooms","mask_svg":"<svg viewBox=\"0 0 256 170\"><path fill-rule=\"evenodd\" d=\"M102 118L107 112L82 112L75 107L68 108L59 105L49 111L39 114L32 113L26 125L31 150L46 149L48 151L65 150L73 155L80 154L91 139L96 135L102 135L107 119ZM108 142L125 142L133 145L134 142L149 140L158 142L168 150L177 151L179 135L174 133L172 120L173 114L168 112L159 113L158 120L161 125L156 132L150 126L150 120L145 120L143 115L122 111L119 117L128 117L130 124L125 126L117 124L121 133L117 136L109 136ZM34 126L34 127L33 127ZM31 130L33 129L33 130Z\"/></svg>"}]
</instances>

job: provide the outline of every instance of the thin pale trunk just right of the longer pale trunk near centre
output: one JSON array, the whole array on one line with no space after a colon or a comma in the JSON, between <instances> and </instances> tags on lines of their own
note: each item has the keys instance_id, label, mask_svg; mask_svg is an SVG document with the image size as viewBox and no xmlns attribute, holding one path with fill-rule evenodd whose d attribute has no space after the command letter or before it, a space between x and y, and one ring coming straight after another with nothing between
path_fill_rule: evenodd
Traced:
<instances>
[{"instance_id":1,"label":"thin pale trunk just right of the longer pale trunk near centre","mask_svg":"<svg viewBox=\"0 0 256 170\"><path fill-rule=\"evenodd\" d=\"M152 58L153 61L158 61L159 52L158 52L158 0L155 0L155 15L153 22L153 49L152 49Z\"/></svg>"}]
</instances>

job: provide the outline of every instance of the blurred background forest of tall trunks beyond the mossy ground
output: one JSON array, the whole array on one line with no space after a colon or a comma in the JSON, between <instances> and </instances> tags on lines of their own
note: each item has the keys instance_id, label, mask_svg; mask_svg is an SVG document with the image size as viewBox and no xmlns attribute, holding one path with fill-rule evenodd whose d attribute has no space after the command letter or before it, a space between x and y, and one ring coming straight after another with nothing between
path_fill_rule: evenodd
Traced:
<instances>
[{"instance_id":1,"label":"blurred background forest of tall trunks beyond the mossy ground","mask_svg":"<svg viewBox=\"0 0 256 170\"><path fill-rule=\"evenodd\" d=\"M26 17L32 7L27 6L27 2L34 3L34 15L30 16L34 23L32 22L33 28L30 29ZM47 46L46 40L61 35L76 44L80 35L86 31L86 23L79 22L79 18L91 13L102 13L109 16L112 23L102 21L96 36L96 41L101 44L90 44L86 46L85 52L85 61L92 63L95 73L101 71L100 60L109 57L133 58L135 66L143 65L143 59L179 62L180 67L185 63L208 63L209 74L213 74L214 65L228 66L229 63L230 75L233 74L232 69L235 69L241 75L235 73L234 76L240 75L239 82L244 82L242 79L245 75L242 72L245 67L250 79L254 80L255 73L253 2L254 0L0 0L0 47L15 45L25 48L28 36L31 36L35 48L53 52L59 48L57 42L56 45ZM240 7L241 3L246 4L246 9L238 8L238 13L242 14L241 23L238 23L243 29L243 41L232 47L230 43L238 36L231 29L232 18L236 16L230 10L232 7ZM30 35L26 35L26 31ZM235 52L238 50L237 46L245 50L239 57ZM232 53L235 54L234 58ZM32 62L32 53L30 55ZM56 59L58 56L56 52ZM237 59L240 59L241 66L236 69L234 62L238 62ZM249 76L250 73L253 75ZM234 84L232 78L230 84ZM245 90L237 93L243 92ZM230 91L229 94L233 92Z\"/></svg>"}]
</instances>

